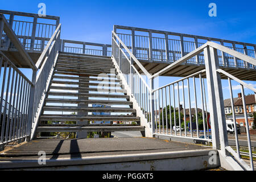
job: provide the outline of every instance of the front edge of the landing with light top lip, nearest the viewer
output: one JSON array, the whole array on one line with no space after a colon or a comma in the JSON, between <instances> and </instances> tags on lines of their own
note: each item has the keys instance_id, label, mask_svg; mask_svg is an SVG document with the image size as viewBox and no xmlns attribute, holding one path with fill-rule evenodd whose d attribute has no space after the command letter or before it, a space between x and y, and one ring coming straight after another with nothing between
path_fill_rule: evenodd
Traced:
<instances>
[{"instance_id":1,"label":"front edge of the landing with light top lip, nearest the viewer","mask_svg":"<svg viewBox=\"0 0 256 182\"><path fill-rule=\"evenodd\" d=\"M12 160L0 162L0 169L97 169L97 170L199 170L220 166L209 164L209 152L216 150L188 150L174 152L155 152L145 154L87 156L82 158L61 158L46 160L46 165L39 165L38 160ZM171 160L172 159L172 160ZM100 166L98 166L100 164ZM125 168L122 167L126 164ZM127 166L128 165L128 166ZM134 168L134 166L140 168ZM150 166L150 168L148 168ZM117 168L118 167L118 168Z\"/></svg>"}]
</instances>

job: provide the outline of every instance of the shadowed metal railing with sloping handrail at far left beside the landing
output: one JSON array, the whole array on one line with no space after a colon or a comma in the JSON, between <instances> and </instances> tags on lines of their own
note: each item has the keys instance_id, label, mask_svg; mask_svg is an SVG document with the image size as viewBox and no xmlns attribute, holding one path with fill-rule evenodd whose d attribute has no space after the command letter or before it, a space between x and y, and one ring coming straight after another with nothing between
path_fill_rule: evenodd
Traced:
<instances>
[{"instance_id":1,"label":"shadowed metal railing with sloping handrail at far left beside the landing","mask_svg":"<svg viewBox=\"0 0 256 182\"><path fill-rule=\"evenodd\" d=\"M18 49L20 56L36 72L36 67L30 56L20 44L15 32L0 14L0 37L5 34ZM34 86L12 61L0 51L1 87L1 140L0 145L28 137L30 133L29 103L31 88Z\"/></svg>"}]
</instances>

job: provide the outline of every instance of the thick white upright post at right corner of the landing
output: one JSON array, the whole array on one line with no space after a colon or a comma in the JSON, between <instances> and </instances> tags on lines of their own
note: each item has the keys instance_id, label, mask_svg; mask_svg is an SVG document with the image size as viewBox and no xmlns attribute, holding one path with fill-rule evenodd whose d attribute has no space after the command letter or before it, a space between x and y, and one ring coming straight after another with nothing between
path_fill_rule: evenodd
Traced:
<instances>
[{"instance_id":1,"label":"thick white upright post at right corner of the landing","mask_svg":"<svg viewBox=\"0 0 256 182\"><path fill-rule=\"evenodd\" d=\"M224 100L219 68L217 49L207 47L204 49L205 68L207 72L208 96L210 106L210 125L212 126L213 148L220 149L226 154L228 134L225 125Z\"/></svg>"}]
</instances>

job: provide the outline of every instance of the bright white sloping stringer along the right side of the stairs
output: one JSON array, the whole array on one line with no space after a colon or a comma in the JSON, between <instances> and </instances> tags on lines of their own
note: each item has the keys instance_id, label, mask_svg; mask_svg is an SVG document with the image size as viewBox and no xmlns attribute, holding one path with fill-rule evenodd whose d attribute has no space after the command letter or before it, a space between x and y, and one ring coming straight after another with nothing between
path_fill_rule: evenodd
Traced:
<instances>
[{"instance_id":1,"label":"bright white sloping stringer along the right side of the stairs","mask_svg":"<svg viewBox=\"0 0 256 182\"><path fill-rule=\"evenodd\" d=\"M122 72L119 69L119 66L117 65L117 61L115 60L115 58L112 56L112 61L115 65L115 69L117 69L118 75L120 77L120 79L122 80L122 84L124 86L123 89L127 90L127 95L130 98L130 102L133 102L133 109L136 109L137 112L137 117L141 118L141 126L144 126L145 129L145 133L144 133L144 137L153 137L153 133L152 133L152 129L150 126L150 123L147 122L146 117L143 114L143 111L141 110L141 107L139 106L138 102L135 100L135 98L133 97L133 95L131 94L131 89L129 87L129 85L127 84L125 77L123 76Z\"/></svg>"}]
</instances>

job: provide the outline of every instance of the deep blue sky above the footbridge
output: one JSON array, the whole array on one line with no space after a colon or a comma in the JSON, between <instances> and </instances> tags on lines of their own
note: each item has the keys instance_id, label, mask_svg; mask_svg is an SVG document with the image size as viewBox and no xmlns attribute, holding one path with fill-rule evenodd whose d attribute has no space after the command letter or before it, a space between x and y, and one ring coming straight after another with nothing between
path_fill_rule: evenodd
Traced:
<instances>
[{"instance_id":1,"label":"deep blue sky above the footbridge","mask_svg":"<svg viewBox=\"0 0 256 182\"><path fill-rule=\"evenodd\" d=\"M119 24L256 43L256 1L0 0L0 9L38 13L38 4L42 2L47 15L60 16L61 39L110 44L113 25ZM217 5L217 17L208 15L212 2ZM160 78L159 86L176 79ZM247 83L256 87L255 82ZM224 88L228 86L227 81L223 84ZM238 92L239 89L234 90L235 97ZM229 98L228 93L224 92L224 98Z\"/></svg>"}]
</instances>

